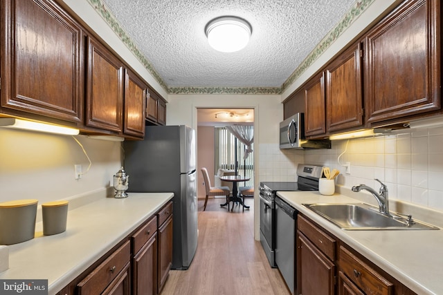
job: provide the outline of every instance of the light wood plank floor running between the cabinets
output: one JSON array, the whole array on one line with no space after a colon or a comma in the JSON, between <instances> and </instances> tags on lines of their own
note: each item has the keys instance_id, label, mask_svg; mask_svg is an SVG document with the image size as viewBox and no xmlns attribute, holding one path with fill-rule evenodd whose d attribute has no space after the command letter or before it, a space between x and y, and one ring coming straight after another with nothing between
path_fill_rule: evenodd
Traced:
<instances>
[{"instance_id":1,"label":"light wood plank floor running between the cabinets","mask_svg":"<svg viewBox=\"0 0 443 295\"><path fill-rule=\"evenodd\" d=\"M162 295L289 295L278 269L271 268L260 241L253 236L250 210L221 208L224 198L209 199L206 211L199 200L197 253L186 271L171 270ZM232 204L232 203L231 203Z\"/></svg>"}]
</instances>

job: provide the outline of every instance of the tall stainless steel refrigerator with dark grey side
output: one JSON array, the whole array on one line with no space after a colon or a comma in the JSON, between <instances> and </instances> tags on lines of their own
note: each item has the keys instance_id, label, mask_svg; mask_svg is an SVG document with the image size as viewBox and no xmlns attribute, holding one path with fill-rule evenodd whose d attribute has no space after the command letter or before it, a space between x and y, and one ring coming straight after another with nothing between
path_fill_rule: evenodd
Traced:
<instances>
[{"instance_id":1,"label":"tall stainless steel refrigerator with dark grey side","mask_svg":"<svg viewBox=\"0 0 443 295\"><path fill-rule=\"evenodd\" d=\"M126 141L123 149L129 192L174 193L172 269L188 269L197 250L195 131L146 126L145 139Z\"/></svg>"}]
</instances>

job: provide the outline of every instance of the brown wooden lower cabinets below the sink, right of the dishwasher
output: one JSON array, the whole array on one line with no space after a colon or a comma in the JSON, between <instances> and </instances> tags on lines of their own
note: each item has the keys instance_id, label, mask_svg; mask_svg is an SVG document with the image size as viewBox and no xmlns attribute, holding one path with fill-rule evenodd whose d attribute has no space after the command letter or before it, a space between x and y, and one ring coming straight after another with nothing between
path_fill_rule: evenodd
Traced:
<instances>
[{"instance_id":1,"label":"brown wooden lower cabinets below the sink, right of the dishwasher","mask_svg":"<svg viewBox=\"0 0 443 295\"><path fill-rule=\"evenodd\" d=\"M329 231L298 214L297 293L416 295Z\"/></svg>"}]
</instances>

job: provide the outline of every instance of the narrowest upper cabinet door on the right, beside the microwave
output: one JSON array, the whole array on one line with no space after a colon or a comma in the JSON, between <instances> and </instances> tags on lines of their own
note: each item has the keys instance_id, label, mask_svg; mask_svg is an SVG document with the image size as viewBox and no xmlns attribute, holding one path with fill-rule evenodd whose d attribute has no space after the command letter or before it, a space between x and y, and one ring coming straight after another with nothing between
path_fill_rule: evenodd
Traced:
<instances>
[{"instance_id":1,"label":"narrowest upper cabinet door on the right, beside the microwave","mask_svg":"<svg viewBox=\"0 0 443 295\"><path fill-rule=\"evenodd\" d=\"M305 86L305 135L320 135L326 132L325 85L323 73L309 80Z\"/></svg>"}]
</instances>

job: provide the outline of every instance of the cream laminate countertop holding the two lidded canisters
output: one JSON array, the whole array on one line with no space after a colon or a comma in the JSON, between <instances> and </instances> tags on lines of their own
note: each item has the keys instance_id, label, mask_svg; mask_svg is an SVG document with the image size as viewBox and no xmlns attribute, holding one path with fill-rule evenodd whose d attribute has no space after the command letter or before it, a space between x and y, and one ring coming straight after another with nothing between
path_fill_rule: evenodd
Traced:
<instances>
[{"instance_id":1,"label":"cream laminate countertop holding the two lidded canisters","mask_svg":"<svg viewBox=\"0 0 443 295\"><path fill-rule=\"evenodd\" d=\"M173 193L129 193L128 198L100 198L68 211L66 231L10 245L9 269L0 279L47 279L53 295L126 238L172 197Z\"/></svg>"}]
</instances>

